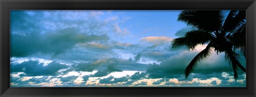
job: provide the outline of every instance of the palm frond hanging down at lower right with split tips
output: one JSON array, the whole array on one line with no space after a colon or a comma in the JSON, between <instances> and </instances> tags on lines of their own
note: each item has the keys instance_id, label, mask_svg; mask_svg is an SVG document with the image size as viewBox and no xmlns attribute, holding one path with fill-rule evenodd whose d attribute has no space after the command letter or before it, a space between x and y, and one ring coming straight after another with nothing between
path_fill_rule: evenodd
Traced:
<instances>
[{"instance_id":1,"label":"palm frond hanging down at lower right with split tips","mask_svg":"<svg viewBox=\"0 0 256 97\"><path fill-rule=\"evenodd\" d=\"M246 72L246 69L242 66L242 64L238 61L239 60L239 54L235 53L234 51L229 50L225 51L225 59L228 61L228 63L232 66L234 70L234 78L238 78L237 74L237 66L242 69L244 72Z\"/></svg>"}]
</instances>

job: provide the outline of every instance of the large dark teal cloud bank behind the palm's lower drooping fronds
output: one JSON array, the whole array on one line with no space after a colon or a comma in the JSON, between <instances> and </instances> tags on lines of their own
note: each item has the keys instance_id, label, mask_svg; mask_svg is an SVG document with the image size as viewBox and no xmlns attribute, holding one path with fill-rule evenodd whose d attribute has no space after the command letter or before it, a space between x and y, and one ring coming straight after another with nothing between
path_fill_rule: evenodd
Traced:
<instances>
[{"instance_id":1,"label":"large dark teal cloud bank behind the palm's lower drooping fronds","mask_svg":"<svg viewBox=\"0 0 256 97\"><path fill-rule=\"evenodd\" d=\"M179 54L172 55L170 58L161 64L150 64L147 68L149 77L151 78L177 78L185 77L184 71L194 56L198 54L197 51L182 51ZM245 65L245 60L241 61ZM197 64L193 73L202 73L202 75L212 74L214 72L233 72L232 67L225 60L225 54L217 55L215 52L208 59L203 60ZM241 74L241 70L238 70ZM242 73L243 74L243 73ZM211 75L214 76L214 75ZM193 77L193 76L189 76ZM209 76L208 76L209 77ZM184 79L183 79L184 80Z\"/></svg>"}]
</instances>

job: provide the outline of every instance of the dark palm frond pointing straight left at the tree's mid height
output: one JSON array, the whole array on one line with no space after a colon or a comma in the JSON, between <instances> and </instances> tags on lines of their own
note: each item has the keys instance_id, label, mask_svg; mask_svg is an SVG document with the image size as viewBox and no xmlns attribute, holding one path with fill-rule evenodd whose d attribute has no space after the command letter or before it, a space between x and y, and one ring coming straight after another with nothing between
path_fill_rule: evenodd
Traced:
<instances>
[{"instance_id":1,"label":"dark palm frond pointing straight left at the tree's mid height","mask_svg":"<svg viewBox=\"0 0 256 97\"><path fill-rule=\"evenodd\" d=\"M179 46L186 46L188 49L194 50L198 44L206 44L210 42L214 37L200 30L192 30L185 34L185 37L175 38L172 41L172 48Z\"/></svg>"}]
</instances>

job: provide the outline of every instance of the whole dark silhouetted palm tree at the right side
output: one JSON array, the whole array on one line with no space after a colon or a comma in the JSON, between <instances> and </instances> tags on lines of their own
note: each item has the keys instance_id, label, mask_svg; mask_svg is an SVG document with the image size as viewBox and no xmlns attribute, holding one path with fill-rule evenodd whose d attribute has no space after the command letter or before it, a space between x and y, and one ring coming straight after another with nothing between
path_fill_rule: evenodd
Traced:
<instances>
[{"instance_id":1,"label":"whole dark silhouetted palm tree at the right side","mask_svg":"<svg viewBox=\"0 0 256 97\"><path fill-rule=\"evenodd\" d=\"M241 55L246 58L246 12L231 10L227 17L225 13L218 10L183 10L179 14L178 21L186 22L188 26L193 26L194 30L188 31L184 37L175 38L172 41L172 48L186 46L194 50L198 44L207 44L206 48L199 52L186 67L186 78L197 63L210 56L213 50L217 54L225 53L225 60L233 67L235 79L238 78L237 67L246 72L239 62Z\"/></svg>"}]
</instances>

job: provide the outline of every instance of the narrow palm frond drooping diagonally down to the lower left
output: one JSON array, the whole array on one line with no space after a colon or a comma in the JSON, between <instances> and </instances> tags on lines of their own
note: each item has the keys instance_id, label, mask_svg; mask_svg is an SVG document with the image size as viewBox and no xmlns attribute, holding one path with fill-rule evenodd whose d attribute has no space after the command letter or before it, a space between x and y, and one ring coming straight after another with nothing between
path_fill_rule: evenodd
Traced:
<instances>
[{"instance_id":1,"label":"narrow palm frond drooping diagonally down to the lower left","mask_svg":"<svg viewBox=\"0 0 256 97\"><path fill-rule=\"evenodd\" d=\"M208 56L211 55L211 52L212 52L211 47L212 47L212 42L210 42L203 51L199 52L195 56L195 58L191 60L191 62L188 64L185 70L186 78L188 78L189 74L195 69L196 64L198 62L201 62L202 60L206 59Z\"/></svg>"}]
</instances>

